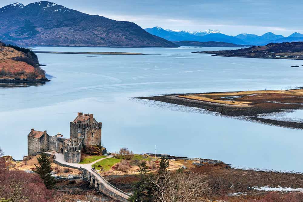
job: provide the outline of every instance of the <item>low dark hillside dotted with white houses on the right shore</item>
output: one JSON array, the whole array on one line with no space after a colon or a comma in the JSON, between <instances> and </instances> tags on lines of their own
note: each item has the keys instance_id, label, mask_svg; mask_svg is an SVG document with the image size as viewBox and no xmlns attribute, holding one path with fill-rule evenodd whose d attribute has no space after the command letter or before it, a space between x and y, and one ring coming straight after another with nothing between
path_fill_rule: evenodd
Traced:
<instances>
[{"instance_id":1,"label":"low dark hillside dotted with white houses on the right shore","mask_svg":"<svg viewBox=\"0 0 303 202\"><path fill-rule=\"evenodd\" d=\"M227 51L198 51L193 53L210 53L215 56L245 58L303 59L303 42L270 43L265 46L253 46Z\"/></svg>"}]
</instances>

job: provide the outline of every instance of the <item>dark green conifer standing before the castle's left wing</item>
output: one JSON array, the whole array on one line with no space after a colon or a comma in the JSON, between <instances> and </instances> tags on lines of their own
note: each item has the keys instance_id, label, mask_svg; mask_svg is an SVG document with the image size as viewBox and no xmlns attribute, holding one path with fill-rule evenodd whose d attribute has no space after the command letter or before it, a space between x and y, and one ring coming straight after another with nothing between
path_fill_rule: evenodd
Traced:
<instances>
[{"instance_id":1,"label":"dark green conifer standing before the castle's left wing","mask_svg":"<svg viewBox=\"0 0 303 202\"><path fill-rule=\"evenodd\" d=\"M45 187L47 189L52 189L55 187L55 178L52 177L51 172L53 171L51 167L51 161L49 157L43 152L40 157L37 158L39 166L35 165L36 173L40 175L43 180Z\"/></svg>"}]
</instances>

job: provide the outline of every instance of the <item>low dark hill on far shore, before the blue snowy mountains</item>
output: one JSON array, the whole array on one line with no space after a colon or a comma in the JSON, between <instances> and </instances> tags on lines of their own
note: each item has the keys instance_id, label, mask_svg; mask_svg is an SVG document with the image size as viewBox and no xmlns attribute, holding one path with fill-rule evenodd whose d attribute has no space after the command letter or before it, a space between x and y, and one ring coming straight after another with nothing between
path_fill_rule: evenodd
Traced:
<instances>
[{"instance_id":1,"label":"low dark hill on far shore, before the blue snowy mountains","mask_svg":"<svg viewBox=\"0 0 303 202\"><path fill-rule=\"evenodd\" d=\"M198 47L246 47L245 45L238 45L233 43L218 42L218 41L178 41L175 44L179 46L198 46Z\"/></svg>"}]
</instances>

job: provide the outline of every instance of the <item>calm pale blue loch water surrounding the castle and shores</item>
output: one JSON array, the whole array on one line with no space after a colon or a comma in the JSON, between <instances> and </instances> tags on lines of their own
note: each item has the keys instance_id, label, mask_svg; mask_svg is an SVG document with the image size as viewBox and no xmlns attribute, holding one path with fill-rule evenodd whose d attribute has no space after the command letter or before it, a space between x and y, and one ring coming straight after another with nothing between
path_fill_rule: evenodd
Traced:
<instances>
[{"instance_id":1,"label":"calm pale blue loch water surrounding the castle and shores","mask_svg":"<svg viewBox=\"0 0 303 202\"><path fill-rule=\"evenodd\" d=\"M302 130L133 98L303 86L303 68L291 67L301 66L303 61L191 54L220 48L37 48L155 55L38 54L40 62L47 65L43 68L51 82L26 88L0 88L0 146L15 159L27 153L31 128L69 137L69 122L82 111L93 113L103 122L102 141L109 151L128 147L135 153L154 152L157 145L158 153L303 172Z\"/></svg>"}]
</instances>

